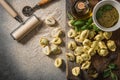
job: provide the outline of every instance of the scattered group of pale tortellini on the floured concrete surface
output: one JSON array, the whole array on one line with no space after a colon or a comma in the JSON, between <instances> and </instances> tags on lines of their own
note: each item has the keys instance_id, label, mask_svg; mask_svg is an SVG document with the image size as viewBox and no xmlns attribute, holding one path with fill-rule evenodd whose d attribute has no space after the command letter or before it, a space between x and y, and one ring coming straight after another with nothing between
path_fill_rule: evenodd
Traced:
<instances>
[{"instance_id":1,"label":"scattered group of pale tortellini on the floured concrete surface","mask_svg":"<svg viewBox=\"0 0 120 80\"><path fill-rule=\"evenodd\" d=\"M56 20L53 17L47 17L45 19L45 24L48 26L54 26L56 24ZM52 40L48 40L45 37L40 38L40 45L42 46L42 51L45 55L58 55L62 53L60 45L62 44L61 35L63 34L63 30L61 27L54 28L51 31ZM61 58L56 58L54 65L56 67L61 67L63 60Z\"/></svg>"}]
</instances>

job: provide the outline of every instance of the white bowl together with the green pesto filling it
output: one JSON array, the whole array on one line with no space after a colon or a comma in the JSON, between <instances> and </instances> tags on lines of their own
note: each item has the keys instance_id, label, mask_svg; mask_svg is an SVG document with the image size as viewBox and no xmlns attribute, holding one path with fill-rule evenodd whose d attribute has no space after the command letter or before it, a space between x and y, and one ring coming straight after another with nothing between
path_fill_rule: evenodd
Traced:
<instances>
[{"instance_id":1,"label":"white bowl together with the green pesto filling it","mask_svg":"<svg viewBox=\"0 0 120 80\"><path fill-rule=\"evenodd\" d=\"M96 26L107 32L120 28L120 3L116 0L102 0L93 9Z\"/></svg>"}]
</instances>

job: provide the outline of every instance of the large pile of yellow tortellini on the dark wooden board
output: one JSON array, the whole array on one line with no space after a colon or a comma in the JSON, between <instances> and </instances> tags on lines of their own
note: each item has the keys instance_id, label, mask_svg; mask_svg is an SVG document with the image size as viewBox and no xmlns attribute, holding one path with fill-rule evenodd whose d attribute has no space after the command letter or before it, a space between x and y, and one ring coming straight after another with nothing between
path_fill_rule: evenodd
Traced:
<instances>
[{"instance_id":1,"label":"large pile of yellow tortellini on the dark wooden board","mask_svg":"<svg viewBox=\"0 0 120 80\"><path fill-rule=\"evenodd\" d=\"M104 57L109 54L109 51L116 51L115 42L110 40L112 32L97 32L87 29L76 32L71 28L67 35L68 38L71 38L67 43L67 48L70 50L66 54L67 59L80 64L80 67L74 67L72 69L74 76L80 74L80 69L89 69L91 58L95 54Z\"/></svg>"}]
</instances>

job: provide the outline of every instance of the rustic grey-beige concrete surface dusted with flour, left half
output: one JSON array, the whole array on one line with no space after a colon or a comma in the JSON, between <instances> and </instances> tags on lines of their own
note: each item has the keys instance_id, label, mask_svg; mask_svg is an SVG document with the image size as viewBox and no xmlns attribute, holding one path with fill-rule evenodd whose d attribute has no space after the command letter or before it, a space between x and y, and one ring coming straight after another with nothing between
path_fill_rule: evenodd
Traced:
<instances>
[{"instance_id":1,"label":"rustic grey-beige concrete surface dusted with flour, left half","mask_svg":"<svg viewBox=\"0 0 120 80\"><path fill-rule=\"evenodd\" d=\"M26 5L34 6L39 0L6 0L26 20L22 8ZM65 30L65 1L56 0L35 14L44 20L52 14L59 26ZM53 29L44 23L32 31L19 43L12 39L10 33L20 25L0 5L0 80L66 80L65 65L58 69L54 66L54 59L61 57L65 61L65 49L59 56L45 56L39 45L41 36L50 38ZM65 38L64 38L65 39ZM63 40L64 40L63 39Z\"/></svg>"}]
</instances>

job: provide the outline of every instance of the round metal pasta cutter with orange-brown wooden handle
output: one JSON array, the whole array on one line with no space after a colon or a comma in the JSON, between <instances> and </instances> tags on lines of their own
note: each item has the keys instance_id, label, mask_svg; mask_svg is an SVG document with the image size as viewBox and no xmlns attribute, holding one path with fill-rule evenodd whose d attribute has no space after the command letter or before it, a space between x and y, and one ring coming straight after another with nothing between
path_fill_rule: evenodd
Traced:
<instances>
[{"instance_id":1,"label":"round metal pasta cutter with orange-brown wooden handle","mask_svg":"<svg viewBox=\"0 0 120 80\"><path fill-rule=\"evenodd\" d=\"M47 4L47 3L51 2L51 1L53 1L53 0L40 0L40 2L38 2L38 4L35 5L33 8L30 7L30 6L25 6L25 7L23 8L23 10L22 10L22 13L23 13L25 16L29 17L29 16L31 16L36 10L38 10L41 6Z\"/></svg>"}]
</instances>

